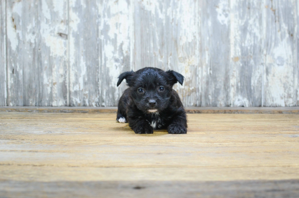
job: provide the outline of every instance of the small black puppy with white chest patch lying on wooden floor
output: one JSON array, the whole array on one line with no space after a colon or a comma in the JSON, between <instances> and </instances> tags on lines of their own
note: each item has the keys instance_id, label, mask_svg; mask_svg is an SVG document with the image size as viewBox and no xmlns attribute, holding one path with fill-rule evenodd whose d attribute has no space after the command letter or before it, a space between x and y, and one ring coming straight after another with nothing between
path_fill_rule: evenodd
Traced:
<instances>
[{"instance_id":1,"label":"small black puppy with white chest patch lying on wooden floor","mask_svg":"<svg viewBox=\"0 0 299 198\"><path fill-rule=\"evenodd\" d=\"M127 88L118 102L116 120L125 123L138 134L153 133L167 128L168 133L187 133L186 112L172 86L183 84L184 77L172 70L146 67L136 72L122 73L117 86L126 79Z\"/></svg>"}]
</instances>

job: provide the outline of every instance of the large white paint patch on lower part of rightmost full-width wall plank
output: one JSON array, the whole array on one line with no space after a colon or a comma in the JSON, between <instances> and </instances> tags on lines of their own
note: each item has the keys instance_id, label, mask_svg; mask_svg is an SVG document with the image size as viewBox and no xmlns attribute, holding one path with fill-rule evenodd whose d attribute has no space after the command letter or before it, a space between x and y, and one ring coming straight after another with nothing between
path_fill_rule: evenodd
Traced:
<instances>
[{"instance_id":1,"label":"large white paint patch on lower part of rightmost full-width wall plank","mask_svg":"<svg viewBox=\"0 0 299 198\"><path fill-rule=\"evenodd\" d=\"M294 67L294 51L289 36L290 24L286 23L289 21L285 20L285 14L289 14L291 11L287 11L289 9L287 5L280 4L273 4L272 9L284 9L286 13L283 11L278 12L276 17L279 17L279 20L277 18L275 22L279 23L279 25L276 24L275 28L270 29L275 42L271 43L272 48L268 50L266 59L266 105L294 106L296 103L294 101L294 72L296 72L294 69L296 67Z\"/></svg>"}]
</instances>

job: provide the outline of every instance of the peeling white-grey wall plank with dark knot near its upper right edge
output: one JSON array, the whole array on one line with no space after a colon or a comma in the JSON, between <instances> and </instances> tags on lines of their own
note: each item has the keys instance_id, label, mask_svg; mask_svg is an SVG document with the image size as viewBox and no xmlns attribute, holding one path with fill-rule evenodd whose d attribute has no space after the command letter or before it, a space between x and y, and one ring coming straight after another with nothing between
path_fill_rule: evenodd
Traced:
<instances>
[{"instance_id":1,"label":"peeling white-grey wall plank with dark knot near its upper right edge","mask_svg":"<svg viewBox=\"0 0 299 198\"><path fill-rule=\"evenodd\" d=\"M38 2L38 106L67 106L67 19L67 0Z\"/></svg>"}]
</instances>

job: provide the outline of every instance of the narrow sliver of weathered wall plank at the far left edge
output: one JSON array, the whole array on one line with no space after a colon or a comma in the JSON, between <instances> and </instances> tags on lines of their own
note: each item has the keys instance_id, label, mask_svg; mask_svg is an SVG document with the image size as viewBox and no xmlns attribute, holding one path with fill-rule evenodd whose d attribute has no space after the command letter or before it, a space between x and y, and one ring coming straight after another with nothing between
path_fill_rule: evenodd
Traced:
<instances>
[{"instance_id":1,"label":"narrow sliver of weathered wall plank at the far left edge","mask_svg":"<svg viewBox=\"0 0 299 198\"><path fill-rule=\"evenodd\" d=\"M6 1L0 2L0 106L6 106Z\"/></svg>"}]
</instances>

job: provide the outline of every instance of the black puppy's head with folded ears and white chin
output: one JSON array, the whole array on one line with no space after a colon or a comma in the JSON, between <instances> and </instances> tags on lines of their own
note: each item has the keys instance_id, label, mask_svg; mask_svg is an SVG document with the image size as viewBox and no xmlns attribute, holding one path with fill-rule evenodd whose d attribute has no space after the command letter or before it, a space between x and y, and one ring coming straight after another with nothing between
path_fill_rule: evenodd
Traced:
<instances>
[{"instance_id":1,"label":"black puppy's head with folded ears and white chin","mask_svg":"<svg viewBox=\"0 0 299 198\"><path fill-rule=\"evenodd\" d=\"M172 86L177 82L182 85L184 81L182 74L153 67L124 72L118 78L117 86L126 79L131 88L131 98L144 113L159 113L164 110L168 106Z\"/></svg>"}]
</instances>

